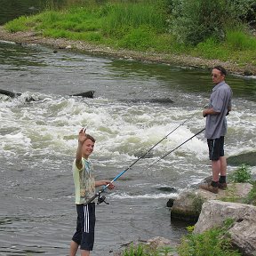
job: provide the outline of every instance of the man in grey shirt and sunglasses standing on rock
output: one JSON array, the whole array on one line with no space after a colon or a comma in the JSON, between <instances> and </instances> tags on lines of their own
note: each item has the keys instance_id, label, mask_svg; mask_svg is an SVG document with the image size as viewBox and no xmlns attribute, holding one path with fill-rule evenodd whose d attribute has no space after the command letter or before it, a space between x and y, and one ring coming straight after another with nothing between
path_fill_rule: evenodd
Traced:
<instances>
[{"instance_id":1,"label":"man in grey shirt and sunglasses standing on rock","mask_svg":"<svg viewBox=\"0 0 256 256\"><path fill-rule=\"evenodd\" d=\"M217 194L220 189L227 188L227 161L224 156L224 136L227 133L226 116L231 111L232 90L226 84L227 71L221 66L212 68L212 89L209 107L204 109L206 117L205 133L212 160L212 182L202 184L200 188ZM219 177L220 175L220 177Z\"/></svg>"}]
</instances>

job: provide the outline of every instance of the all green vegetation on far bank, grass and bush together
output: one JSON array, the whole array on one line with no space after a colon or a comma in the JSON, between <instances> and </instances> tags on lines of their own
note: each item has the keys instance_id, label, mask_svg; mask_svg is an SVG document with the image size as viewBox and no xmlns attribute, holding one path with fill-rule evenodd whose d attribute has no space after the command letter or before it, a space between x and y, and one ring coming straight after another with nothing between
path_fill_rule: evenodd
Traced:
<instances>
[{"instance_id":1,"label":"all green vegetation on far bank, grass and bush together","mask_svg":"<svg viewBox=\"0 0 256 256\"><path fill-rule=\"evenodd\" d=\"M68 1L68 0L67 0ZM84 40L140 52L190 54L256 64L254 0L84 0L5 24L11 32ZM253 9L254 8L254 9Z\"/></svg>"}]
</instances>

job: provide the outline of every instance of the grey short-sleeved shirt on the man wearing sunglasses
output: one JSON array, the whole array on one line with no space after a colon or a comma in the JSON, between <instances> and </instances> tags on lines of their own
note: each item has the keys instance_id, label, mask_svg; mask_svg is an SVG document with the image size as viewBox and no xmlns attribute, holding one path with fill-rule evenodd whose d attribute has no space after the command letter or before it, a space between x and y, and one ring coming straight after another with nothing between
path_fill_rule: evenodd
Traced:
<instances>
[{"instance_id":1,"label":"grey short-sleeved shirt on the man wearing sunglasses","mask_svg":"<svg viewBox=\"0 0 256 256\"><path fill-rule=\"evenodd\" d=\"M216 115L206 116L204 136L207 139L218 139L227 133L227 113L231 108L232 90L225 81L216 84L212 89L209 108L213 108Z\"/></svg>"}]
</instances>

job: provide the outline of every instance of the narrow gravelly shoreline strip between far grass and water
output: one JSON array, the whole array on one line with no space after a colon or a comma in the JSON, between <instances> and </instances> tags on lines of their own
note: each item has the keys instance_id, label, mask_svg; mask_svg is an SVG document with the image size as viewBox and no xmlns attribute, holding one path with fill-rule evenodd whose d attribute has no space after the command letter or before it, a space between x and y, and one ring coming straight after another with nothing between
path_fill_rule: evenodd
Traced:
<instances>
[{"instance_id":1,"label":"narrow gravelly shoreline strip between far grass and water","mask_svg":"<svg viewBox=\"0 0 256 256\"><path fill-rule=\"evenodd\" d=\"M215 65L222 65L230 73L239 75L256 76L256 66L247 64L239 67L236 63L223 62L220 60L204 60L201 58L191 57L188 55L174 55L156 52L135 52L129 50L115 50L108 46L88 44L82 41L71 41L64 38L48 38L40 36L35 32L17 32L8 33L3 27L0 27L0 40L12 41L17 44L43 44L51 46L54 50L66 49L67 51L76 51L91 53L94 55L104 55L114 58L127 60L139 60L144 62L166 63L193 68L212 68Z\"/></svg>"}]
</instances>

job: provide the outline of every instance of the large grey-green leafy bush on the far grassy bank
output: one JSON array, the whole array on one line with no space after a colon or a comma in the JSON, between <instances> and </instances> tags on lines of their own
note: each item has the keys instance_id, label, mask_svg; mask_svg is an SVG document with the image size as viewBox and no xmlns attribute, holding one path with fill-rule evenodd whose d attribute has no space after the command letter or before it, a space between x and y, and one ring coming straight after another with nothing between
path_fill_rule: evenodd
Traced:
<instances>
[{"instance_id":1,"label":"large grey-green leafy bush on the far grassy bank","mask_svg":"<svg viewBox=\"0 0 256 256\"><path fill-rule=\"evenodd\" d=\"M196 45L205 39L225 39L227 28L236 28L252 10L252 0L172 0L171 33L184 44Z\"/></svg>"}]
</instances>

